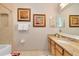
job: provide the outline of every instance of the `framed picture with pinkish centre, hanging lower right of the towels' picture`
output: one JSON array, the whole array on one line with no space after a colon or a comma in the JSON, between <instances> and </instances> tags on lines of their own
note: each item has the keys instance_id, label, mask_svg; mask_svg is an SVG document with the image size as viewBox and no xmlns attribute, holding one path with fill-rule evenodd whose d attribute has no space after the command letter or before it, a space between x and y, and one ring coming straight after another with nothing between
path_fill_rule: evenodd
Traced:
<instances>
[{"instance_id":1,"label":"framed picture with pinkish centre, hanging lower right of the towels' picture","mask_svg":"<svg viewBox=\"0 0 79 59\"><path fill-rule=\"evenodd\" d=\"M45 27L46 26L46 15L45 14L34 14L33 15L33 27Z\"/></svg>"}]
</instances>

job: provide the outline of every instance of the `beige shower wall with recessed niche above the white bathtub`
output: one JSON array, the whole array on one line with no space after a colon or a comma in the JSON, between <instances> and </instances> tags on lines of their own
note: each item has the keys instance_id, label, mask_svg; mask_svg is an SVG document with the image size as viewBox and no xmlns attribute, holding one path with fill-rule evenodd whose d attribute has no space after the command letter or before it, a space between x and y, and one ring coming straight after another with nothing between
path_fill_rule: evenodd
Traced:
<instances>
[{"instance_id":1,"label":"beige shower wall with recessed niche above the white bathtub","mask_svg":"<svg viewBox=\"0 0 79 59\"><path fill-rule=\"evenodd\" d=\"M12 27L12 12L0 5L0 44L11 43Z\"/></svg>"}]
</instances>

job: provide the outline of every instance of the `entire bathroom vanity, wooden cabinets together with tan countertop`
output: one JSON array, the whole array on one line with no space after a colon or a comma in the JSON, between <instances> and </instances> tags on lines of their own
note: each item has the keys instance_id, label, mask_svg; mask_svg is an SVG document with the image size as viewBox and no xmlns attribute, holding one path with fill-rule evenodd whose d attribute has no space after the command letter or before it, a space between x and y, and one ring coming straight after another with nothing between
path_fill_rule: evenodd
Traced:
<instances>
[{"instance_id":1,"label":"entire bathroom vanity, wooden cabinets together with tan countertop","mask_svg":"<svg viewBox=\"0 0 79 59\"><path fill-rule=\"evenodd\" d=\"M79 56L79 40L73 37L48 35L48 48L53 56Z\"/></svg>"}]
</instances>

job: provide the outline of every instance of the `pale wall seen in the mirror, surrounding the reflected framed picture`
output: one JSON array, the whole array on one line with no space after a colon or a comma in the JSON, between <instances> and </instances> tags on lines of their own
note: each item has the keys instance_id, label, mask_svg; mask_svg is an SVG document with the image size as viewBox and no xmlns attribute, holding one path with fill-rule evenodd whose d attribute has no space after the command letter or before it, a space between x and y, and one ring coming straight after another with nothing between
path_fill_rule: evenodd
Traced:
<instances>
[{"instance_id":1,"label":"pale wall seen in the mirror, surrounding the reflected framed picture","mask_svg":"<svg viewBox=\"0 0 79 59\"><path fill-rule=\"evenodd\" d=\"M61 11L61 14L65 19L65 28L63 32L79 35L79 27L69 27L69 15L79 15L79 4L69 4Z\"/></svg>"}]
</instances>

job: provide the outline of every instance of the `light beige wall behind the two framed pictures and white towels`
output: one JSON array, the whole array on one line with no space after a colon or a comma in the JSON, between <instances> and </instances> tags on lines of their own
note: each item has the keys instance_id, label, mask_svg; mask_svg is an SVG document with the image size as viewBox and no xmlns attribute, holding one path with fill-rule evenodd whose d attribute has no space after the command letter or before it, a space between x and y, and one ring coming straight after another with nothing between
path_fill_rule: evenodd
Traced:
<instances>
[{"instance_id":1,"label":"light beige wall behind the two framed pictures and white towels","mask_svg":"<svg viewBox=\"0 0 79 59\"><path fill-rule=\"evenodd\" d=\"M12 10L13 14L13 28L14 28L14 38L13 47L14 50L47 50L48 41L47 35L56 33L56 28L50 27L49 21L50 16L53 17L52 20L55 21L55 16L57 15L58 4L42 4L42 3L29 3L29 4L4 4L9 9ZM17 8L31 8L31 22L30 29L26 32L19 32L17 30ZM33 27L33 14L43 13L46 14L46 27L35 28ZM55 22L54 22L55 23ZM21 44L20 40L24 39L25 43Z\"/></svg>"}]
</instances>

